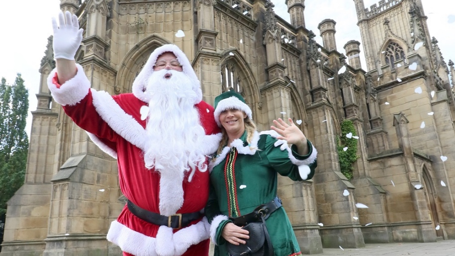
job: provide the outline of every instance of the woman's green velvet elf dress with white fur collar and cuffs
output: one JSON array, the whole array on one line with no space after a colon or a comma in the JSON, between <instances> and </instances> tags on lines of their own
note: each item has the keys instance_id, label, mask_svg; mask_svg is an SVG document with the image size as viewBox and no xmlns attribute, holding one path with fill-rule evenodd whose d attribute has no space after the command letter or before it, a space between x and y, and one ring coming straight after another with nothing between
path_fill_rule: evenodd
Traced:
<instances>
[{"instance_id":1,"label":"woman's green velvet elf dress with white fur collar and cuffs","mask_svg":"<svg viewBox=\"0 0 455 256\"><path fill-rule=\"evenodd\" d=\"M271 136L273 134L273 137ZM211 223L210 237L215 256L229 256L221 231L236 218L252 212L276 197L277 174L292 180L310 179L317 167L316 149L308 141L309 153L300 156L296 147L289 148L277 140L274 131L256 132L250 145L245 132L240 139L225 147L210 163L210 194L205 215ZM281 146L279 146L281 144ZM266 220L275 256L301 255L297 239L283 207Z\"/></svg>"}]
</instances>

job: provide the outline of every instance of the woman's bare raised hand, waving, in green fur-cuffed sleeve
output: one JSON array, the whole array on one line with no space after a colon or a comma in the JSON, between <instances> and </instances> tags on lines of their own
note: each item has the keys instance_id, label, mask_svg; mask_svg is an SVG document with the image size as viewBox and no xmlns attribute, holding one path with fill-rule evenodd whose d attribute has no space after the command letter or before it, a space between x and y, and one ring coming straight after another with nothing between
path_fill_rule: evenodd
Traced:
<instances>
[{"instance_id":1,"label":"woman's bare raised hand, waving, in green fur-cuffed sleeve","mask_svg":"<svg viewBox=\"0 0 455 256\"><path fill-rule=\"evenodd\" d=\"M288 144L293 144L297 146L297 153L299 155L308 154L308 143L303 132L294 124L291 118L288 119L289 124L284 122L281 118L273 120L273 124L276 126L271 126L270 128L277 132L279 135L276 137L278 140L285 140Z\"/></svg>"}]
</instances>

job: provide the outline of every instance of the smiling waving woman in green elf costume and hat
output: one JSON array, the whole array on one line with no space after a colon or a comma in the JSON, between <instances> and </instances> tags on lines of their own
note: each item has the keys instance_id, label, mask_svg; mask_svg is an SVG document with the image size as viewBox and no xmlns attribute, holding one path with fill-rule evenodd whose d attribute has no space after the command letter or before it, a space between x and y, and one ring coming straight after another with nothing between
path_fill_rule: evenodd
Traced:
<instances>
[{"instance_id":1,"label":"smiling waving woman in green elf costume and hat","mask_svg":"<svg viewBox=\"0 0 455 256\"><path fill-rule=\"evenodd\" d=\"M259 235L241 228L253 222L267 227L261 231L266 237L266 255L301 255L276 195L277 174L292 180L312 178L317 167L316 149L290 118L289 124L273 120L273 131L260 135L250 107L232 90L215 98L214 115L223 137L209 166L211 185L205 214L211 223L215 256L233 255L232 249L239 248L244 255L254 255L258 242L249 241ZM243 251L237 252L240 255Z\"/></svg>"}]
</instances>

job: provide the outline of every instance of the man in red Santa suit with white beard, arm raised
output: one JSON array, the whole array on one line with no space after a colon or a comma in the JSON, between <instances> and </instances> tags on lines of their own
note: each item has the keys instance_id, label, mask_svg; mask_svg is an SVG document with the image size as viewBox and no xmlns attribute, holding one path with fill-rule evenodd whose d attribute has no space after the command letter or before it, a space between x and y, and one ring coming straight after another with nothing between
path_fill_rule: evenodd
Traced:
<instances>
[{"instance_id":1,"label":"man in red Santa suit with white beard, arm raised","mask_svg":"<svg viewBox=\"0 0 455 256\"><path fill-rule=\"evenodd\" d=\"M74 61L82 40L77 17L60 13L59 23L53 21L57 68L49 89L91 140L117 159L128 199L107 239L123 255L208 255L209 225L201 214L209 190L206 155L220 135L188 59L175 45L159 47L133 93L111 96L91 89Z\"/></svg>"}]
</instances>

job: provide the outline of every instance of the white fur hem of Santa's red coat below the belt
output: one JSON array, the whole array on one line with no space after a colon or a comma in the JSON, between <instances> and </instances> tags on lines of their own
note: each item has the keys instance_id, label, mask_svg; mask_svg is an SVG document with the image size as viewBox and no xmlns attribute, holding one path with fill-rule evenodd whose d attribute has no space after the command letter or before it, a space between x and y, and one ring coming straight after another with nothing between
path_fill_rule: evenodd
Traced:
<instances>
[{"instance_id":1,"label":"white fur hem of Santa's red coat below the belt","mask_svg":"<svg viewBox=\"0 0 455 256\"><path fill-rule=\"evenodd\" d=\"M123 252L135 256L180 256L192 245L209 238L207 219L173 233L171 228L161 226L157 237L149 237L125 225L113 221L107 240L119 246Z\"/></svg>"}]
</instances>

